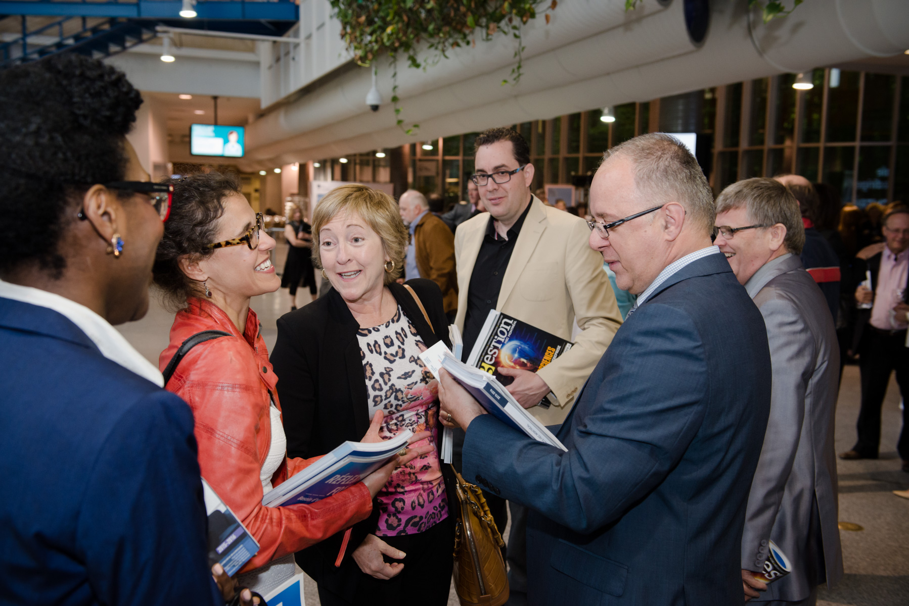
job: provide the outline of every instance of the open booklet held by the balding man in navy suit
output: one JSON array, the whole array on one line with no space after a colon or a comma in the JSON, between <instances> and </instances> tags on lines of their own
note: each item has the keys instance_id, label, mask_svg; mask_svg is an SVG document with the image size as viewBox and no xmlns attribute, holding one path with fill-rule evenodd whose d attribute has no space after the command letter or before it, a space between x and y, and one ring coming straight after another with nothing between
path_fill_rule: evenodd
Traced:
<instances>
[{"instance_id":1,"label":"open booklet held by the balding man in navy suit","mask_svg":"<svg viewBox=\"0 0 909 606\"><path fill-rule=\"evenodd\" d=\"M461 362L445 347L445 343L441 341L435 343L420 354L420 359L423 360L426 368L436 376L438 376L439 369L445 368L455 381L461 383L464 389L470 392L477 402L480 402L486 412L499 421L519 432L524 432L537 442L543 442L568 452L562 442L559 442L543 423L537 421L530 412L525 411L524 407L517 403L514 396L504 388L502 383L498 382L494 375Z\"/></svg>"}]
</instances>

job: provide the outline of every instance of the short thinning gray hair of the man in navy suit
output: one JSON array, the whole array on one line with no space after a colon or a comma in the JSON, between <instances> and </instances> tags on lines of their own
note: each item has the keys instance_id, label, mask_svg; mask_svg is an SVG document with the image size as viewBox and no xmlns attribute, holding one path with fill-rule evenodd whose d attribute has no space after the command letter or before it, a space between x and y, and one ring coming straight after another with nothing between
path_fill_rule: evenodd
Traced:
<instances>
[{"instance_id":1,"label":"short thinning gray hair of the man in navy suit","mask_svg":"<svg viewBox=\"0 0 909 606\"><path fill-rule=\"evenodd\" d=\"M684 144L665 133L642 134L606 150L605 163L624 155L634 163L634 186L656 204L678 202L704 233L714 230L714 193Z\"/></svg>"}]
</instances>

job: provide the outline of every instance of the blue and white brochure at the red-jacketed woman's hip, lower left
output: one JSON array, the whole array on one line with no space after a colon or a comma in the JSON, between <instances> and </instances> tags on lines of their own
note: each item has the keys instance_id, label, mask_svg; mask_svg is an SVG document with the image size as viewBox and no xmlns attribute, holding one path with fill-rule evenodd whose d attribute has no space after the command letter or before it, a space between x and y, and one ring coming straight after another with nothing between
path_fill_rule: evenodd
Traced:
<instances>
[{"instance_id":1,"label":"blue and white brochure at the red-jacketed woman's hip, lower left","mask_svg":"<svg viewBox=\"0 0 909 606\"><path fill-rule=\"evenodd\" d=\"M202 479L202 493L205 515L208 516L208 567L219 563L228 576L234 576L247 561L253 559L259 551L259 543L205 482L205 478Z\"/></svg>"}]
</instances>

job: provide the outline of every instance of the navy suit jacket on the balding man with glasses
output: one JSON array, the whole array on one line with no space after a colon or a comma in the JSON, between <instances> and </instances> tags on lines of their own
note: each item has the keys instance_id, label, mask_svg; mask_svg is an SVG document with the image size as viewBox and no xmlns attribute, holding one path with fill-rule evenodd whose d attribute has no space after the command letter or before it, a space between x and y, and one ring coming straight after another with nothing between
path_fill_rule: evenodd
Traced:
<instances>
[{"instance_id":1,"label":"navy suit jacket on the balding man with glasses","mask_svg":"<svg viewBox=\"0 0 909 606\"><path fill-rule=\"evenodd\" d=\"M770 412L764 320L722 254L628 317L557 433L471 422L464 477L534 510L531 604L740 604L745 503Z\"/></svg>"}]
</instances>

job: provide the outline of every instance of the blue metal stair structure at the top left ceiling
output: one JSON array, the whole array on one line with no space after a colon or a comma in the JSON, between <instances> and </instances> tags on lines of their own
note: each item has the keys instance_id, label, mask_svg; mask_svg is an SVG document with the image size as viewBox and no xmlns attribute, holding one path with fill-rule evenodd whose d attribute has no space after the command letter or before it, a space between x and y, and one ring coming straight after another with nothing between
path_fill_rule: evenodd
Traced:
<instances>
[{"instance_id":1,"label":"blue metal stair structure at the top left ceiling","mask_svg":"<svg viewBox=\"0 0 909 606\"><path fill-rule=\"evenodd\" d=\"M40 60L57 53L105 57L141 45L157 34L156 25L216 30L240 34L283 35L298 19L292 0L255 2L209 0L197 2L197 16L179 16L182 3L174 0L134 2L51 2L0 0L0 20L18 19L21 35L0 42L0 69ZM29 27L29 17L40 25ZM48 23L48 17L58 17ZM33 18L34 22L35 19ZM7 21L8 23L8 21Z\"/></svg>"}]
</instances>

